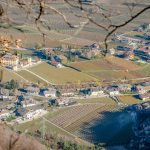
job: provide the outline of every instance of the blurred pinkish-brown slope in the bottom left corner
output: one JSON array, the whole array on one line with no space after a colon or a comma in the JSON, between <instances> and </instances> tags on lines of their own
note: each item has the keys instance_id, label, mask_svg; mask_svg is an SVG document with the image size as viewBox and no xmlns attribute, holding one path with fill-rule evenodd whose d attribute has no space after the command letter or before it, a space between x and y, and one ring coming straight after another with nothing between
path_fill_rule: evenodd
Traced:
<instances>
[{"instance_id":1,"label":"blurred pinkish-brown slope in the bottom left corner","mask_svg":"<svg viewBox=\"0 0 150 150\"><path fill-rule=\"evenodd\" d=\"M0 150L46 150L46 147L33 138L19 135L0 124Z\"/></svg>"}]
</instances>

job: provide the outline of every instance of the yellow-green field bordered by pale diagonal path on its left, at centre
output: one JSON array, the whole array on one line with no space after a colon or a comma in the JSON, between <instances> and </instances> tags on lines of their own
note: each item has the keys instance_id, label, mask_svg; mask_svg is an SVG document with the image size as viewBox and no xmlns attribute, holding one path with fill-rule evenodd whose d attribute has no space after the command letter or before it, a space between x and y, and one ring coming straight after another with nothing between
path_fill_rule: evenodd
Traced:
<instances>
[{"instance_id":1,"label":"yellow-green field bordered by pale diagonal path on its left, at centre","mask_svg":"<svg viewBox=\"0 0 150 150\"><path fill-rule=\"evenodd\" d=\"M36 67L29 69L30 71L36 73L37 75L43 77L53 84L65 84L73 82L86 82L96 80L89 75L75 71L70 68L55 68L47 63L40 64Z\"/></svg>"}]
</instances>

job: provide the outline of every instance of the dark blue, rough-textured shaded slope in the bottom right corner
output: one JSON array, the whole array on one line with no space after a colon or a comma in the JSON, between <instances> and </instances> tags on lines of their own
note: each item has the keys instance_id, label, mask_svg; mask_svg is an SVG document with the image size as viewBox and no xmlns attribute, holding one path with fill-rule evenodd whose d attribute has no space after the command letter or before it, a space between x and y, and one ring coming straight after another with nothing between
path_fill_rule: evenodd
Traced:
<instances>
[{"instance_id":1,"label":"dark blue, rough-textured shaded slope in the bottom right corner","mask_svg":"<svg viewBox=\"0 0 150 150\"><path fill-rule=\"evenodd\" d=\"M130 141L131 150L150 149L150 102L134 105L130 108L136 113L133 126L135 137Z\"/></svg>"}]
</instances>

